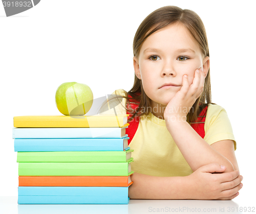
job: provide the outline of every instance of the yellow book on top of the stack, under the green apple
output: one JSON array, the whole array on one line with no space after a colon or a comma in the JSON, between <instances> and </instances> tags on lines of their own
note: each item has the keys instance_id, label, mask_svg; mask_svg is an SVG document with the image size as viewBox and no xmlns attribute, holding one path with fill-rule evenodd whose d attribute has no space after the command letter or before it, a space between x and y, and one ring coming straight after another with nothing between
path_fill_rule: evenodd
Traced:
<instances>
[{"instance_id":1,"label":"yellow book on top of the stack, under the green apple","mask_svg":"<svg viewBox=\"0 0 256 214\"><path fill-rule=\"evenodd\" d=\"M83 116L65 116L65 115L28 115L14 116L14 127L125 127L129 114L96 114Z\"/></svg>"}]
</instances>

